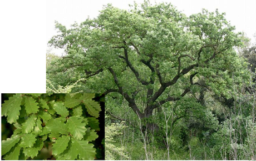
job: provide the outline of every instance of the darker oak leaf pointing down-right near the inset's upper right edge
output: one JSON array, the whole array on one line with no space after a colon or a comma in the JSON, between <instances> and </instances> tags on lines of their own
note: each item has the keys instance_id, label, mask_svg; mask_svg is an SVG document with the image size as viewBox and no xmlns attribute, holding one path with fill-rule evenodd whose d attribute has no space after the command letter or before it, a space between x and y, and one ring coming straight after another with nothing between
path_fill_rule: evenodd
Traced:
<instances>
[{"instance_id":1,"label":"darker oak leaf pointing down-right near the inset's upper right edge","mask_svg":"<svg viewBox=\"0 0 256 161\"><path fill-rule=\"evenodd\" d=\"M83 103L85 104L88 114L96 118L100 116L99 113L101 111L101 107L98 102L95 102L94 100L84 100Z\"/></svg>"}]
</instances>

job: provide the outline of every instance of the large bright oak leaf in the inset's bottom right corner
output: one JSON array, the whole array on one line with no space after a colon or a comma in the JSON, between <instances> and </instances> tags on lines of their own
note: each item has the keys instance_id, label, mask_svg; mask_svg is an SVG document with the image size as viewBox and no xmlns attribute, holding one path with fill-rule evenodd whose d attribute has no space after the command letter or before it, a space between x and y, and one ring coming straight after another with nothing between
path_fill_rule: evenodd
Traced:
<instances>
[{"instance_id":1,"label":"large bright oak leaf in the inset's bottom right corner","mask_svg":"<svg viewBox=\"0 0 256 161\"><path fill-rule=\"evenodd\" d=\"M88 143L87 140L78 140L72 138L72 145L77 149L79 158L82 160L94 160L96 149L93 144Z\"/></svg>"}]
</instances>

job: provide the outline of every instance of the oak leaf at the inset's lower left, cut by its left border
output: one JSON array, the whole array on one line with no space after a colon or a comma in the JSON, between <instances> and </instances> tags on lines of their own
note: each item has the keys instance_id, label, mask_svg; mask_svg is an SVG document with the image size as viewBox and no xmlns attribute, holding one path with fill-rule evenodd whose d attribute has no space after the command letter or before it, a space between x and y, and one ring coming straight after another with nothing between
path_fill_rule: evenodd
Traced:
<instances>
[{"instance_id":1,"label":"oak leaf at the inset's lower left, cut by its left border","mask_svg":"<svg viewBox=\"0 0 256 161\"><path fill-rule=\"evenodd\" d=\"M20 139L19 135L12 135L11 138L7 138L6 140L2 140L2 147L1 147L2 155L9 152L9 150L11 150L11 148L14 147L14 145L16 143L19 142L19 139Z\"/></svg>"}]
</instances>

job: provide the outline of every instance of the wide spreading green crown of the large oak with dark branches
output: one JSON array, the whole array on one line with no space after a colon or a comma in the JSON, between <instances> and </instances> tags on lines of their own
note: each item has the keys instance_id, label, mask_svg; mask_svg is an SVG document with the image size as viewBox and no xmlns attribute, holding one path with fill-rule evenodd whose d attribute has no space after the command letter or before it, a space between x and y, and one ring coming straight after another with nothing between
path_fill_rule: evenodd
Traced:
<instances>
[{"instance_id":1,"label":"wide spreading green crown of the large oak with dark branches","mask_svg":"<svg viewBox=\"0 0 256 161\"><path fill-rule=\"evenodd\" d=\"M47 78L60 85L86 78L87 92L120 94L141 118L170 101L198 102L202 85L229 98L233 80L241 85L246 76L234 50L243 35L218 10L187 17L168 3L129 11L108 4L97 18L56 28L49 44L66 54Z\"/></svg>"}]
</instances>

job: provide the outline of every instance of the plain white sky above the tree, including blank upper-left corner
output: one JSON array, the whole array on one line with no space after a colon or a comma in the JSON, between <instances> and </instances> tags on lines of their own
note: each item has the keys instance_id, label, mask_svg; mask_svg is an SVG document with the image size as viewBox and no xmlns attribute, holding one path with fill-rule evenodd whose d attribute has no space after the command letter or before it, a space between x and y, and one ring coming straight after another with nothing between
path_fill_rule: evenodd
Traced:
<instances>
[{"instance_id":1,"label":"plain white sky above the tree, including blank upper-left corner","mask_svg":"<svg viewBox=\"0 0 256 161\"><path fill-rule=\"evenodd\" d=\"M135 0L140 4L143 0ZM9 0L0 1L0 92L45 93L47 42L56 34L55 21L70 26L97 17L103 5L129 9L134 0ZM226 13L237 32L256 32L254 0L166 0L187 16L208 11ZM55 51L53 51L55 52Z\"/></svg>"}]
</instances>

